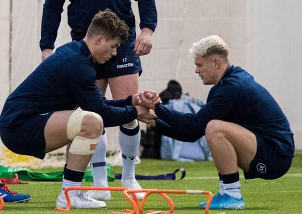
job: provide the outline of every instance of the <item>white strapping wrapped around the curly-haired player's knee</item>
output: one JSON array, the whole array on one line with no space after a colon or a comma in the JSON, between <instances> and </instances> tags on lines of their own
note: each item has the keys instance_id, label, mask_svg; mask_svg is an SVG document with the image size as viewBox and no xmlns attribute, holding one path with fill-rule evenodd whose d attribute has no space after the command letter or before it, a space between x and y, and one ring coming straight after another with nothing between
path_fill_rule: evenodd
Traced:
<instances>
[{"instance_id":1,"label":"white strapping wrapped around the curly-haired player's knee","mask_svg":"<svg viewBox=\"0 0 302 214\"><path fill-rule=\"evenodd\" d=\"M79 109L74 111L68 119L67 137L72 140L69 148L69 152L72 154L92 154L100 139L100 136L94 139L78 136L78 133L81 132L83 119L89 113L89 111Z\"/></svg>"}]
</instances>

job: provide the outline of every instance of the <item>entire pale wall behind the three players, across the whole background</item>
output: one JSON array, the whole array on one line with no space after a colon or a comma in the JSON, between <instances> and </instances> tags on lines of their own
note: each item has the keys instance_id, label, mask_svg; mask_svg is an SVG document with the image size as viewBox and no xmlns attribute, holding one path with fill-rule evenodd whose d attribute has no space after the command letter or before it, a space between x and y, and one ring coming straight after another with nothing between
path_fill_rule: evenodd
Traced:
<instances>
[{"instance_id":1,"label":"entire pale wall behind the three players, across the whole background","mask_svg":"<svg viewBox=\"0 0 302 214\"><path fill-rule=\"evenodd\" d=\"M41 61L43 3L2 0L0 110L10 87L14 89L20 84ZM133 1L132 5L138 23L137 3ZM210 86L203 86L194 73L194 60L188 50L202 37L217 34L228 44L231 62L246 68L279 102L290 120L296 148L302 149L301 6L299 0L157 0L159 23L152 53L141 57L140 90L161 92L170 79L176 79L183 91L205 100ZM69 28L63 14L56 46L67 41L70 41ZM107 130L109 149L118 144L117 131L117 128Z\"/></svg>"}]
</instances>

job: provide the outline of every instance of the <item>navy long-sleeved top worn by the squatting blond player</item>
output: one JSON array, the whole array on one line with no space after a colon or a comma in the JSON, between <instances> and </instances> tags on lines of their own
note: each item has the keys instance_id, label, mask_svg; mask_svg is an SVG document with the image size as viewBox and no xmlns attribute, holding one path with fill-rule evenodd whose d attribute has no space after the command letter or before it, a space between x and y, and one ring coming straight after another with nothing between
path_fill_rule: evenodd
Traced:
<instances>
[{"instance_id":1,"label":"navy long-sleeved top worn by the squatting blond player","mask_svg":"<svg viewBox=\"0 0 302 214\"><path fill-rule=\"evenodd\" d=\"M196 114L156 105L155 130L181 141L194 142L205 135L209 121L236 123L265 141L281 155L293 157L294 141L289 122L270 93L240 67L229 67L209 92L206 105Z\"/></svg>"}]
</instances>

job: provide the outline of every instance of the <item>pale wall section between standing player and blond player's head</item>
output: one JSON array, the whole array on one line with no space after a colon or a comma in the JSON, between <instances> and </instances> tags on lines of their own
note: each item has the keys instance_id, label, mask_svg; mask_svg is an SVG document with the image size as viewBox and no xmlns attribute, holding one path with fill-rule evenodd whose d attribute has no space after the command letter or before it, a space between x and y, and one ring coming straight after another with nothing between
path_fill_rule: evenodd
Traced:
<instances>
[{"instance_id":1,"label":"pale wall section between standing player and blond player's head","mask_svg":"<svg viewBox=\"0 0 302 214\"><path fill-rule=\"evenodd\" d=\"M213 34L227 42L235 64L246 66L245 1L159 0L156 3L159 23L152 53L141 57L141 89L153 88L160 92L170 79L176 79L183 91L205 100L211 86L202 85L188 52L193 42Z\"/></svg>"}]
</instances>

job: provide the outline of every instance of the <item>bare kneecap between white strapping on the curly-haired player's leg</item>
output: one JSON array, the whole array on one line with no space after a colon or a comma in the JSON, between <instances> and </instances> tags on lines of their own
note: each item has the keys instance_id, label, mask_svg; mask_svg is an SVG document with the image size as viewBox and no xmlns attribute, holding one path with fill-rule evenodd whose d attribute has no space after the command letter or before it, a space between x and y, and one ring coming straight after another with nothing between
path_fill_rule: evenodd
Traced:
<instances>
[{"instance_id":1,"label":"bare kneecap between white strapping on the curly-haired player's leg","mask_svg":"<svg viewBox=\"0 0 302 214\"><path fill-rule=\"evenodd\" d=\"M97 138L103 132L103 119L102 117L94 112L89 112L83 118L83 127L85 127L87 138Z\"/></svg>"}]
</instances>

